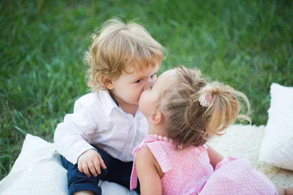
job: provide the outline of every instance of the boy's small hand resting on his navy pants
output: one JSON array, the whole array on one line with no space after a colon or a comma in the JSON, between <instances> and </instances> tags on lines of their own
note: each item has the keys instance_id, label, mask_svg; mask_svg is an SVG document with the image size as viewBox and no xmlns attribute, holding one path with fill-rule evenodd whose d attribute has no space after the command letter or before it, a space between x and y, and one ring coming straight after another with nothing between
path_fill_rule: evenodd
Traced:
<instances>
[{"instance_id":1,"label":"boy's small hand resting on his navy pants","mask_svg":"<svg viewBox=\"0 0 293 195\"><path fill-rule=\"evenodd\" d=\"M98 176L98 174L101 174L100 165L103 169L107 168L101 155L93 149L85 151L78 158L78 170L81 173L84 173L88 177L90 177L89 171L94 176Z\"/></svg>"}]
</instances>

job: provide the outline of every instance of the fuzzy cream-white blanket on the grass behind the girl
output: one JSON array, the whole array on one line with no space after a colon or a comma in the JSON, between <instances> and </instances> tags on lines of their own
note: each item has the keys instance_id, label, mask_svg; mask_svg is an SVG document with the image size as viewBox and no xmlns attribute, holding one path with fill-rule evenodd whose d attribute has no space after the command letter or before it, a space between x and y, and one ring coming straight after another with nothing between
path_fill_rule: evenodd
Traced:
<instances>
[{"instance_id":1,"label":"fuzzy cream-white blanket on the grass behind the girl","mask_svg":"<svg viewBox=\"0 0 293 195\"><path fill-rule=\"evenodd\" d=\"M293 186L293 171L273 167L258 161L261 139L265 126L232 125L224 136L214 138L209 145L223 156L246 157L251 167L265 174L273 184L283 187Z\"/></svg>"}]
</instances>

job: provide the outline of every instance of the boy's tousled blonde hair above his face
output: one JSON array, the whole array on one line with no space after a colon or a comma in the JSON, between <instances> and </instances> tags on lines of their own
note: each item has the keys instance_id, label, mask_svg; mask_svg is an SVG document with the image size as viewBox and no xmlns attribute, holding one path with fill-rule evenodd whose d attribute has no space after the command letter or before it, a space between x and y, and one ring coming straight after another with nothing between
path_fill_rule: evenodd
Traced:
<instances>
[{"instance_id":1,"label":"boy's tousled blonde hair above his face","mask_svg":"<svg viewBox=\"0 0 293 195\"><path fill-rule=\"evenodd\" d=\"M133 21L107 20L92 39L84 54L89 66L87 84L92 91L106 89L103 76L117 79L123 73L131 74L127 72L128 65L143 70L148 65L160 64L164 58L163 46Z\"/></svg>"}]
</instances>

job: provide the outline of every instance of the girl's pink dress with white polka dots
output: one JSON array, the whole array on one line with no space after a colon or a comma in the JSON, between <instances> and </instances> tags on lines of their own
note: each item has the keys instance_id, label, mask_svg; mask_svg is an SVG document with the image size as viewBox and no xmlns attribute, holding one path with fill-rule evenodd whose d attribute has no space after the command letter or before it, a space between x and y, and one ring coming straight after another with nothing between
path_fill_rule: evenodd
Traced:
<instances>
[{"instance_id":1,"label":"girl's pink dress with white polka dots","mask_svg":"<svg viewBox=\"0 0 293 195\"><path fill-rule=\"evenodd\" d=\"M165 175L162 195L278 195L275 186L262 173L252 170L246 158L226 157L215 170L209 164L206 145L176 150L175 144L146 135L133 155L148 147ZM130 189L135 189L135 163Z\"/></svg>"}]
</instances>

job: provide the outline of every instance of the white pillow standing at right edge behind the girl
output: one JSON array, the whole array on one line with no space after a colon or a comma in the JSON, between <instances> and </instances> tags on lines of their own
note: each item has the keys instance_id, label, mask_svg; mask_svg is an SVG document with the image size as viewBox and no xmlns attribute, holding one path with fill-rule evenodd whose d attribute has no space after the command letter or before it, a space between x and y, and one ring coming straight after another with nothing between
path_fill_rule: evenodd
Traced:
<instances>
[{"instance_id":1,"label":"white pillow standing at right edge behind the girl","mask_svg":"<svg viewBox=\"0 0 293 195\"><path fill-rule=\"evenodd\" d=\"M293 170L293 87L272 83L268 113L259 160Z\"/></svg>"}]
</instances>

